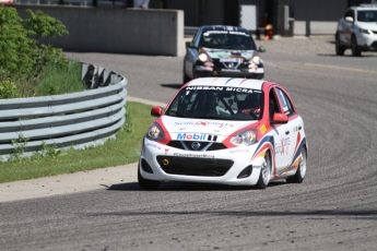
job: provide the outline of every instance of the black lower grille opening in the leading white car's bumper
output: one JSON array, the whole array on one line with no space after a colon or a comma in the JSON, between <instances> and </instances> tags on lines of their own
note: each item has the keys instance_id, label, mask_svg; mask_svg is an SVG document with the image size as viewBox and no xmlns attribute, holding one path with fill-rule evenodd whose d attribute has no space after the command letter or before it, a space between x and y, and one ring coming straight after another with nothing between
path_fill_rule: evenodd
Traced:
<instances>
[{"instance_id":1,"label":"black lower grille opening in the leading white car's bumper","mask_svg":"<svg viewBox=\"0 0 377 251\"><path fill-rule=\"evenodd\" d=\"M161 168L169 175L181 176L224 176L233 166L231 159L219 158L188 158L175 156L157 156Z\"/></svg>"}]
</instances>

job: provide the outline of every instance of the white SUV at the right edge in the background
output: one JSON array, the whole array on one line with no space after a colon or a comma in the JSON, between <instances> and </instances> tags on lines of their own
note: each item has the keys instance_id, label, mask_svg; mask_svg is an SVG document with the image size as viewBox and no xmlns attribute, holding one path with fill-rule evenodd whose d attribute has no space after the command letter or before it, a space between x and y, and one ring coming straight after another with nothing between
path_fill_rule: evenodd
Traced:
<instances>
[{"instance_id":1,"label":"white SUV at the right edge in the background","mask_svg":"<svg viewBox=\"0 0 377 251\"><path fill-rule=\"evenodd\" d=\"M339 20L335 52L342 56L347 48L351 48L352 56L377 51L377 4L351 7Z\"/></svg>"}]
</instances>

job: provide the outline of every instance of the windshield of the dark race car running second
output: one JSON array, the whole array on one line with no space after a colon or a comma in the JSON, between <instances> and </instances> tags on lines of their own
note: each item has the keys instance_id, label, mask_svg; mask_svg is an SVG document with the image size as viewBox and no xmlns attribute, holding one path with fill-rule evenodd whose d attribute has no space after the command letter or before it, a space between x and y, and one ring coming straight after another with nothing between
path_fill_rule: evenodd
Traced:
<instances>
[{"instance_id":1,"label":"windshield of the dark race car running second","mask_svg":"<svg viewBox=\"0 0 377 251\"><path fill-rule=\"evenodd\" d=\"M236 31L204 31L199 47L237 50L256 49L250 33Z\"/></svg>"}]
</instances>

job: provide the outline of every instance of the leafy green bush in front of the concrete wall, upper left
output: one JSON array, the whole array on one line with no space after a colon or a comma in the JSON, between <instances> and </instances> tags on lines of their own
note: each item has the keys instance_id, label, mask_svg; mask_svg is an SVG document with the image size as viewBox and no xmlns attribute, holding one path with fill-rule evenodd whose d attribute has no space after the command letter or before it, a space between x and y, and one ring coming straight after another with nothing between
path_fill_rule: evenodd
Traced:
<instances>
[{"instance_id":1,"label":"leafy green bush in front of the concrete wall, upper left","mask_svg":"<svg viewBox=\"0 0 377 251\"><path fill-rule=\"evenodd\" d=\"M66 26L42 11L26 12L28 17L22 20L15 8L0 5L0 81L22 86L26 92L21 96L37 93L36 82L46 65L68 65L62 49L48 44L49 38L68 34Z\"/></svg>"}]
</instances>

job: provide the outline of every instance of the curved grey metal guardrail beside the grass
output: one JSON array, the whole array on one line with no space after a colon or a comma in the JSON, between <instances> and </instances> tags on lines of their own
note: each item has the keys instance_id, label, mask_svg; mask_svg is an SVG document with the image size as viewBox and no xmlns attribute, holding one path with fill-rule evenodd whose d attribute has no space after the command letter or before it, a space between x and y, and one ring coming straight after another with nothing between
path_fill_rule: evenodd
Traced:
<instances>
[{"instance_id":1,"label":"curved grey metal guardrail beside the grass","mask_svg":"<svg viewBox=\"0 0 377 251\"><path fill-rule=\"evenodd\" d=\"M8 160L25 139L23 155L101 145L126 122L127 79L82 63L89 89L64 95L0 99L0 157Z\"/></svg>"}]
</instances>

